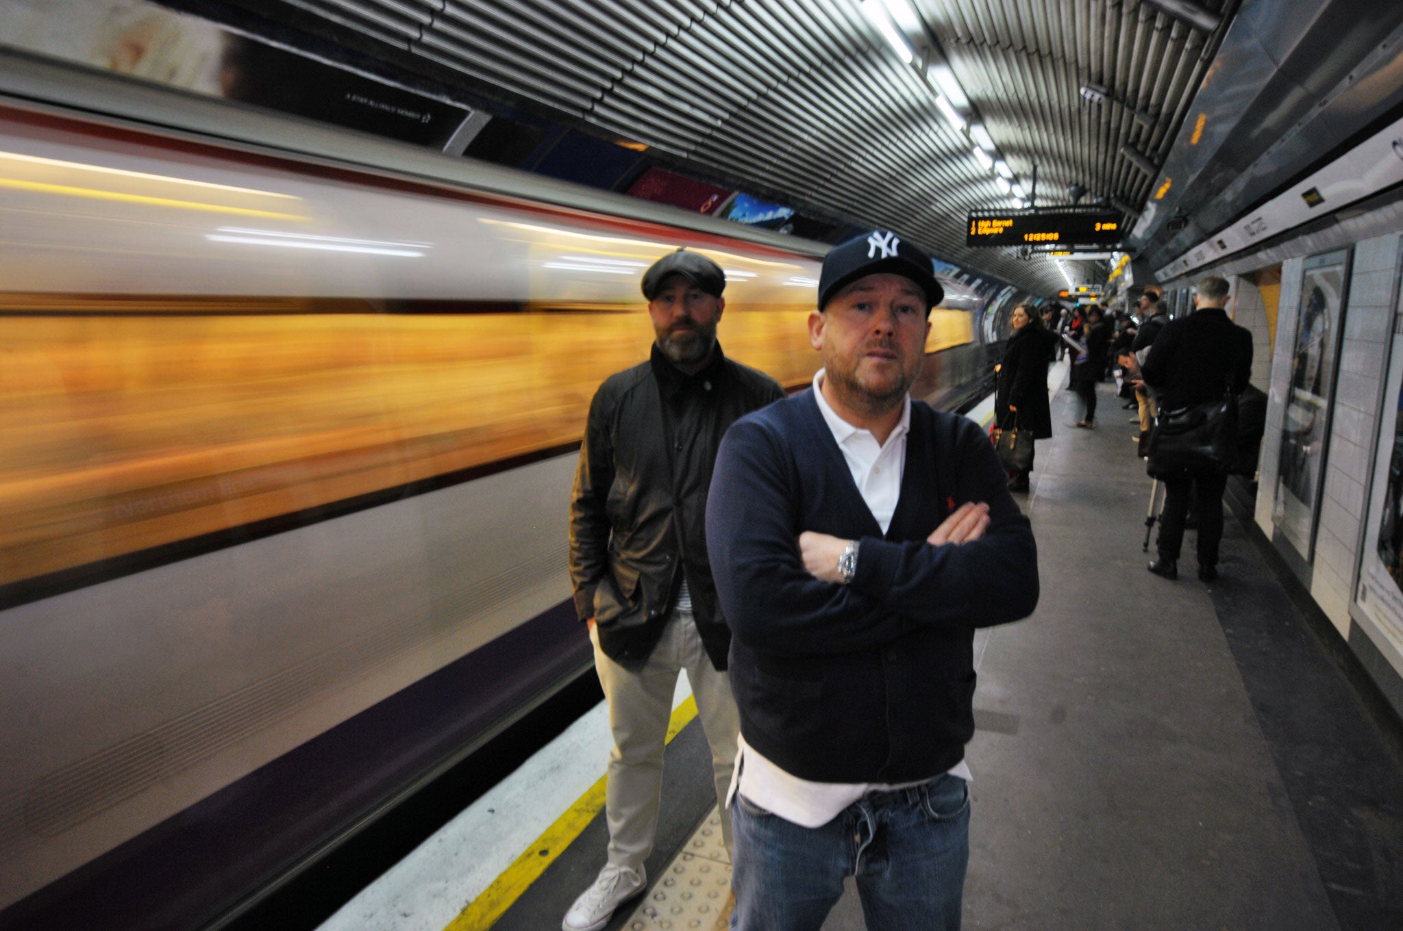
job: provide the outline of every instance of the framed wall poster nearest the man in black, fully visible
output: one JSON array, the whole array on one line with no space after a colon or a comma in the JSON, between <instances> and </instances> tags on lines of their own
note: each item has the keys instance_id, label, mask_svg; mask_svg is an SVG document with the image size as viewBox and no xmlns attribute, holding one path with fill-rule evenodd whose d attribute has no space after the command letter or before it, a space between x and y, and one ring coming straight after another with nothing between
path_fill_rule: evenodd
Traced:
<instances>
[{"instance_id":1,"label":"framed wall poster nearest the man in black, fully visible","mask_svg":"<svg viewBox=\"0 0 1403 931\"><path fill-rule=\"evenodd\" d=\"M1348 280L1348 250L1305 261L1273 520L1306 562L1315 555Z\"/></svg>"}]
</instances>

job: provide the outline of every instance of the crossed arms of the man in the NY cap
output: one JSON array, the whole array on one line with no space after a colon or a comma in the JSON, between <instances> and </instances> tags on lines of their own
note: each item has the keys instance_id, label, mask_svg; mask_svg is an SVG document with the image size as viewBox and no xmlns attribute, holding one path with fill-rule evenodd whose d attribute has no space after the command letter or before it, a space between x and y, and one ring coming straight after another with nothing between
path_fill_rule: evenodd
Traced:
<instances>
[{"instance_id":1,"label":"crossed arms of the man in the NY cap","mask_svg":"<svg viewBox=\"0 0 1403 931\"><path fill-rule=\"evenodd\" d=\"M781 442L756 422L731 428L707 499L707 550L735 637L788 653L843 653L925 625L1030 614L1038 597L1031 527L989 442L971 429L961 443L954 491L971 503L923 540L864 537L852 585L838 585L847 540L803 529L796 465Z\"/></svg>"}]
</instances>

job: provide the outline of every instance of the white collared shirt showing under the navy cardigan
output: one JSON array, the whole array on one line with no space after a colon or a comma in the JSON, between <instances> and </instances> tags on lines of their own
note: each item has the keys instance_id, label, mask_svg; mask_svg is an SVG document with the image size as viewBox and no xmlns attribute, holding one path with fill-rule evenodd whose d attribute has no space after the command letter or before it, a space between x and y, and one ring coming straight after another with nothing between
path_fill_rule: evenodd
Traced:
<instances>
[{"instance_id":1,"label":"white collared shirt showing under the navy cardigan","mask_svg":"<svg viewBox=\"0 0 1403 931\"><path fill-rule=\"evenodd\" d=\"M824 397L824 370L814 376L814 400L818 411L824 415L824 422L832 430L838 449L843 451L847 468L853 474L853 484L861 492L867 509L882 533L891 526L891 516L897 512L897 499L901 496L901 478L906 467L906 433L911 432L911 395L906 395L901 411L901 422L891 432L885 443L878 443L871 430L856 428L828 404ZM969 767L961 760L951 775L971 780ZM739 752L735 756L735 770L731 775L731 792L727 803L735 794L744 792L745 798L760 808L770 810L787 822L801 827L819 827L833 820L839 812L860 799L868 792L890 792L912 785L920 785L926 780L915 782L812 782L790 775L776 764L766 760L739 739Z\"/></svg>"}]
</instances>

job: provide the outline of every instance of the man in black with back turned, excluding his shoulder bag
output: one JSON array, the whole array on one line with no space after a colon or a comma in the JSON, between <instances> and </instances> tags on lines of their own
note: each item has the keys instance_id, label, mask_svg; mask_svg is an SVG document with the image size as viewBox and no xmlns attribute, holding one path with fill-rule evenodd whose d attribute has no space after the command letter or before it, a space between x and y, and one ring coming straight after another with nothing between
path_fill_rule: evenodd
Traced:
<instances>
[{"instance_id":1,"label":"man in black with back turned, excluding his shoulder bag","mask_svg":"<svg viewBox=\"0 0 1403 931\"><path fill-rule=\"evenodd\" d=\"M1228 280L1209 275L1194 287L1194 313L1169 321L1155 338L1141 373L1155 388L1160 411L1221 401L1240 394L1251 379L1251 332L1228 320ZM1218 578L1218 544L1223 536L1226 471L1205 471L1164 480L1159 517L1159 558L1149 571L1179 578L1179 550L1193 502L1198 516L1198 578Z\"/></svg>"}]
</instances>

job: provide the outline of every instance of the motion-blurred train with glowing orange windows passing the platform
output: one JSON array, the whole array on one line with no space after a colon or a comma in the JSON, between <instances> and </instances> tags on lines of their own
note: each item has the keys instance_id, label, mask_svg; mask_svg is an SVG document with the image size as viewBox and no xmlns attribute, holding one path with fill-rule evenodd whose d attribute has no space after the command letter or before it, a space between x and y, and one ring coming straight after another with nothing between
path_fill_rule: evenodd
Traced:
<instances>
[{"instance_id":1,"label":"motion-blurred train with glowing orange windows passing the platform","mask_svg":"<svg viewBox=\"0 0 1403 931\"><path fill-rule=\"evenodd\" d=\"M230 913L588 667L568 492L655 258L723 265L731 356L818 360L822 244L122 93L161 126L0 97L6 927ZM936 402L1024 297L971 279Z\"/></svg>"}]
</instances>

